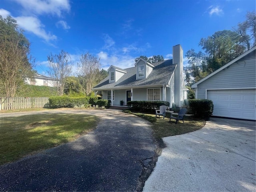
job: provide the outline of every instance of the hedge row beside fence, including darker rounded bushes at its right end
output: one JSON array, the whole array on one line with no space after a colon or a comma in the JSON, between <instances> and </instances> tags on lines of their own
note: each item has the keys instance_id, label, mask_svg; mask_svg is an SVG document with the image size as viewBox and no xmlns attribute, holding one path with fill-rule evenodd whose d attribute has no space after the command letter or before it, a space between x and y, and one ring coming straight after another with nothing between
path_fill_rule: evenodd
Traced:
<instances>
[{"instance_id":1,"label":"hedge row beside fence, including darker rounded bushes at its right end","mask_svg":"<svg viewBox=\"0 0 256 192\"><path fill-rule=\"evenodd\" d=\"M95 100L95 97L71 98L66 96L54 96L49 98L49 103L52 108L90 107L96 105L99 107L106 107L108 105L108 100Z\"/></svg>"}]
</instances>

